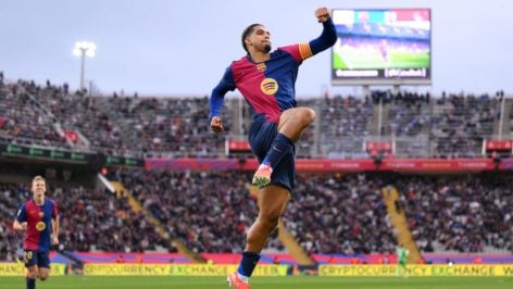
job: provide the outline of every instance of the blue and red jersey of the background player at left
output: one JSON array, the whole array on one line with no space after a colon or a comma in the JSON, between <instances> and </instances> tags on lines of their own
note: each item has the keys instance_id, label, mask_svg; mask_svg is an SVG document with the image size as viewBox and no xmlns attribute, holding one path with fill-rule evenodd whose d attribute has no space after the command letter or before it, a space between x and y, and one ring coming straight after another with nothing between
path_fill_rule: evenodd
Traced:
<instances>
[{"instance_id":1,"label":"blue and red jersey of the background player at left","mask_svg":"<svg viewBox=\"0 0 513 289\"><path fill-rule=\"evenodd\" d=\"M38 252L50 251L52 218L57 217L57 204L51 199L45 198L42 205L36 204L34 199L23 204L16 215L17 222L27 222L23 249Z\"/></svg>"}]
</instances>

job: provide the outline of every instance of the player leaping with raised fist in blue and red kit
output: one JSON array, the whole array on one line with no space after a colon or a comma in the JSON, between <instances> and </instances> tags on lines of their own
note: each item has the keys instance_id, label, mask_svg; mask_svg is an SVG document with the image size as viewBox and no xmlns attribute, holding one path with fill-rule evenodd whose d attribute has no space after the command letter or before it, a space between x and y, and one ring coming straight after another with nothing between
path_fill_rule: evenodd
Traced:
<instances>
[{"instance_id":1,"label":"player leaping with raised fist in blue and red kit","mask_svg":"<svg viewBox=\"0 0 513 289\"><path fill-rule=\"evenodd\" d=\"M295 143L315 118L312 109L296 106L298 68L302 61L328 49L337 40L330 11L320 8L315 10L315 16L323 25L320 37L273 52L267 28L262 24L248 26L241 37L247 55L228 66L212 91L210 125L215 133L223 130L220 113L228 90L237 88L251 105L253 121L248 139L260 162L252 179L260 188L260 211L246 237L239 267L227 278L232 288L249 288L248 280L260 260L260 252L276 228L293 189Z\"/></svg>"}]
</instances>

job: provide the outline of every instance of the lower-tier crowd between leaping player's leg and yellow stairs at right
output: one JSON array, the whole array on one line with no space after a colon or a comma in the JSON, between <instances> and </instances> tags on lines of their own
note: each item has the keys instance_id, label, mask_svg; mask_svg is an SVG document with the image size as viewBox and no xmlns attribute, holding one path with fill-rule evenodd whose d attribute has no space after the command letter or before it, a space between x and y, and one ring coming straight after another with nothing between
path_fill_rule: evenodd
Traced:
<instances>
[{"instance_id":1,"label":"lower-tier crowd between leaping player's leg and yellow stairs at right","mask_svg":"<svg viewBox=\"0 0 513 289\"><path fill-rule=\"evenodd\" d=\"M284 219L309 253L392 252L379 179L359 175L299 175Z\"/></svg>"}]
</instances>

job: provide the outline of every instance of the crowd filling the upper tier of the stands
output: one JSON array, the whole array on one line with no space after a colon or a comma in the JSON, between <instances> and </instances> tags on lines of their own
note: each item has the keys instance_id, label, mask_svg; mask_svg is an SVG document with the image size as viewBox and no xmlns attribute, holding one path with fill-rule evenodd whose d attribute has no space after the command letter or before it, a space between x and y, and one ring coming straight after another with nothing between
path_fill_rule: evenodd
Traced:
<instances>
[{"instance_id":1,"label":"crowd filling the upper tier of the stands","mask_svg":"<svg viewBox=\"0 0 513 289\"><path fill-rule=\"evenodd\" d=\"M443 92L434 98L380 91L370 98L298 99L299 105L313 108L317 117L298 142L297 155L365 158L363 143L374 137L406 141L396 146L395 154L402 158L479 156L483 139L498 131L503 97ZM225 155L224 141L234 137L232 131L236 137L247 133L251 115L248 104L241 103L232 98L225 101L226 131L216 135L209 127L208 97L98 97L72 92L66 84L8 81L2 76L0 137L116 155L218 158ZM510 124L512 111L508 101L504 123ZM66 131L76 137L70 139ZM510 130L502 131L503 138L511 138Z\"/></svg>"}]
</instances>

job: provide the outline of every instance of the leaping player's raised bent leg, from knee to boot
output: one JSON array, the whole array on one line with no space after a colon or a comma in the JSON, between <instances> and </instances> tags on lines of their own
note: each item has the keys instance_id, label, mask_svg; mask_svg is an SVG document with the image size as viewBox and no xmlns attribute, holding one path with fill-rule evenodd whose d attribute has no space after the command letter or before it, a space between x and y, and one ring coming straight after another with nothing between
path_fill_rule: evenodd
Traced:
<instances>
[{"instance_id":1,"label":"leaping player's raised bent leg, from knee to boot","mask_svg":"<svg viewBox=\"0 0 513 289\"><path fill-rule=\"evenodd\" d=\"M252 184L260 187L271 183L271 175L281 158L293 149L295 142L301 138L303 130L315 120L315 112L310 108L286 110L279 116L278 135L274 138L259 169L253 176Z\"/></svg>"}]
</instances>

